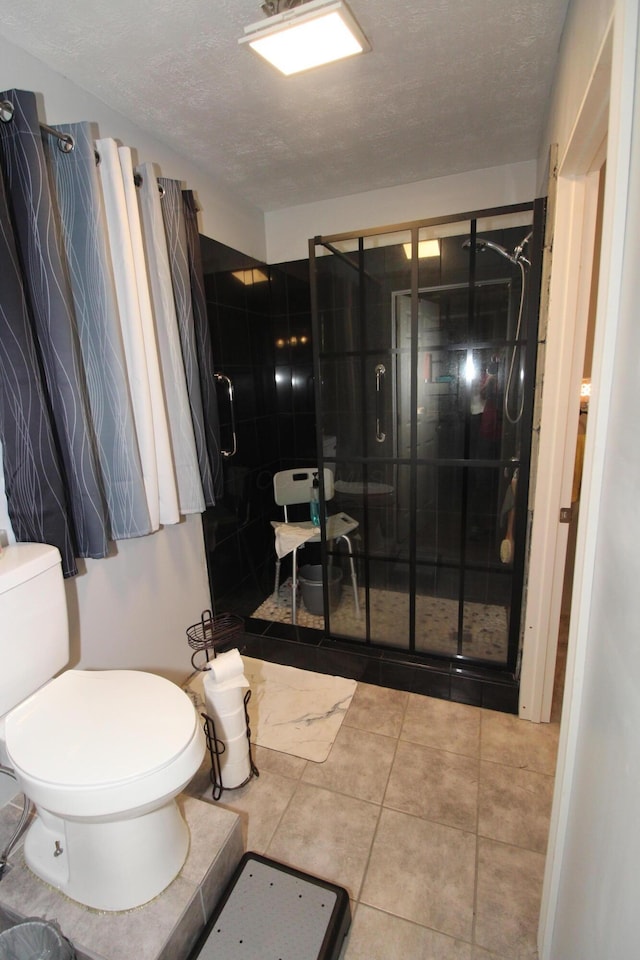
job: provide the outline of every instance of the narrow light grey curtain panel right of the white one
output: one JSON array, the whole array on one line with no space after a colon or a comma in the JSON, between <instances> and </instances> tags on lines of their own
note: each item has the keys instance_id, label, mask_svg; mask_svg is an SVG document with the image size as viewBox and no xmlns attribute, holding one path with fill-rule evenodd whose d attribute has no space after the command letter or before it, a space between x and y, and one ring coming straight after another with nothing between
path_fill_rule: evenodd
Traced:
<instances>
[{"instance_id":1,"label":"narrow light grey curtain panel right of the white one","mask_svg":"<svg viewBox=\"0 0 640 960\"><path fill-rule=\"evenodd\" d=\"M205 509L204 493L185 380L158 180L151 163L140 164L136 167L136 173L140 178L136 193L149 267L149 286L156 322L162 386L168 413L180 512L202 513Z\"/></svg>"}]
</instances>

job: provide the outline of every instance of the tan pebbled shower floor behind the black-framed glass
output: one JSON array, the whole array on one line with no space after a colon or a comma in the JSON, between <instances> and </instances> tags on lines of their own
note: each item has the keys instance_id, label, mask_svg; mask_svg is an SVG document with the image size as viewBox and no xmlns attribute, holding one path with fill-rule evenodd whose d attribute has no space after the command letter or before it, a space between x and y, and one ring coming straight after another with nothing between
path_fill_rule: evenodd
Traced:
<instances>
[{"instance_id":1,"label":"tan pebbled shower floor behind the black-framed glass","mask_svg":"<svg viewBox=\"0 0 640 960\"><path fill-rule=\"evenodd\" d=\"M331 614L331 629L341 636L364 639L364 590L359 591L360 616L356 617L353 592L345 586L338 608ZM369 591L371 629L374 641L403 648L403 624L409 623L409 597L394 590ZM267 597L253 617L278 623L291 622L291 578L280 587L277 597ZM324 630L324 617L315 616L298 603L301 627ZM488 603L464 605L463 652L466 656L492 662L506 660L508 612L504 606ZM406 632L406 631L405 631ZM458 603L444 597L416 597L416 649L425 653L455 656L458 650Z\"/></svg>"}]
</instances>

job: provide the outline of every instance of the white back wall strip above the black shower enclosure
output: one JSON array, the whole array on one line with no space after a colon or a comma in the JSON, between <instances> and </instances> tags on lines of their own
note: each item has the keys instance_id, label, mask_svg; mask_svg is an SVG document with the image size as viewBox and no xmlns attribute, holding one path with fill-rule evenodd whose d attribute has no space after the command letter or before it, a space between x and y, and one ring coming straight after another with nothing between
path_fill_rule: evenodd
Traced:
<instances>
[{"instance_id":1,"label":"white back wall strip above the black shower enclosure","mask_svg":"<svg viewBox=\"0 0 640 960\"><path fill-rule=\"evenodd\" d=\"M532 160L274 210L265 214L267 260L306 259L308 241L316 236L527 203L535 197Z\"/></svg>"}]
</instances>

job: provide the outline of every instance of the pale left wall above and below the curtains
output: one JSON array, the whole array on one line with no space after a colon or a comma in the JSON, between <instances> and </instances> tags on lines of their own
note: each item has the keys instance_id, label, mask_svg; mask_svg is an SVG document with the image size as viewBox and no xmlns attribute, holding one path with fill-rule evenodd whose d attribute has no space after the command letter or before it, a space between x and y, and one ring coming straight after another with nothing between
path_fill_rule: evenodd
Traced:
<instances>
[{"instance_id":1,"label":"pale left wall above and below the curtains","mask_svg":"<svg viewBox=\"0 0 640 960\"><path fill-rule=\"evenodd\" d=\"M163 176L183 180L196 191L203 233L264 259L261 211L232 200L186 157L0 37L0 90L12 88L40 95L43 122L95 121L101 136L135 148L140 161L157 163ZM153 536L120 541L114 556L86 561L67 583L67 599L72 665L184 677L191 670L185 630L211 605L200 516Z\"/></svg>"}]
</instances>

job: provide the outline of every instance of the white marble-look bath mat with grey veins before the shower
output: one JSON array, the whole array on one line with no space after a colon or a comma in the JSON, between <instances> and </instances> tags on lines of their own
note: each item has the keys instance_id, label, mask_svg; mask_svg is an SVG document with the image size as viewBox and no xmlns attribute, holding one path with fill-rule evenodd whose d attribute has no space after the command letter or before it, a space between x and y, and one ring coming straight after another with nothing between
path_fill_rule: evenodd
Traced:
<instances>
[{"instance_id":1,"label":"white marble-look bath mat with grey veins before the shower","mask_svg":"<svg viewBox=\"0 0 640 960\"><path fill-rule=\"evenodd\" d=\"M251 688L251 742L269 750L322 763L342 726L356 681L279 663L242 657ZM186 685L196 708L204 708L202 674Z\"/></svg>"}]
</instances>

